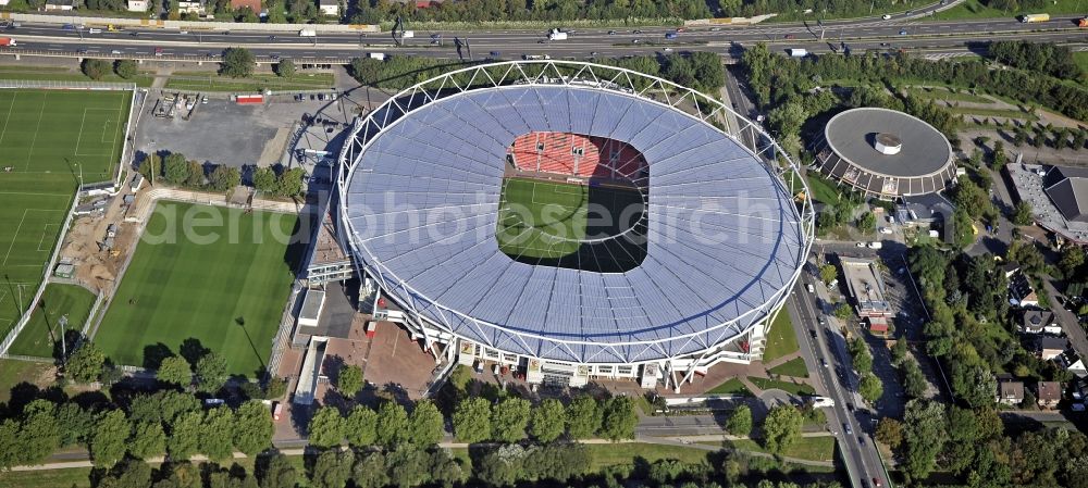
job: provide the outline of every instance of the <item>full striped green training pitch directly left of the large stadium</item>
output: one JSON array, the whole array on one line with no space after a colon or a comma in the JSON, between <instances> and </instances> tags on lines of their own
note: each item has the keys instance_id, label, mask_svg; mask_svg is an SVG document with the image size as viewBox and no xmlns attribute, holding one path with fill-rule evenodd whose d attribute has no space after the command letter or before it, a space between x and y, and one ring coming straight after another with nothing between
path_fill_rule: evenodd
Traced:
<instances>
[{"instance_id":1,"label":"full striped green training pitch directly left of the large stadium","mask_svg":"<svg viewBox=\"0 0 1088 488\"><path fill-rule=\"evenodd\" d=\"M209 216L215 225L185 225ZM298 256L286 240L297 223L159 202L95 343L118 364L152 367L195 339L226 359L230 373L254 375L267 364L290 291Z\"/></svg>"}]
</instances>

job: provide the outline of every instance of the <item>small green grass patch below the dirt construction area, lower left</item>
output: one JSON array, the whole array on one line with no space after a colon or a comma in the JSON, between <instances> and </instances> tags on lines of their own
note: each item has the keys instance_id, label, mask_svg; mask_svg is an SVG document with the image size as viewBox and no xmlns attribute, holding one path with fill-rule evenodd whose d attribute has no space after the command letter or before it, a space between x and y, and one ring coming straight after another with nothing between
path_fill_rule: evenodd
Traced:
<instances>
[{"instance_id":1,"label":"small green grass patch below the dirt construction area, lower left","mask_svg":"<svg viewBox=\"0 0 1088 488\"><path fill-rule=\"evenodd\" d=\"M64 327L67 334L79 331L87 323L87 315L94 305L95 293L82 286L60 283L46 285L46 291L41 293L41 300L30 314L30 321L23 327L23 331L11 345L9 352L38 358L59 358L61 317L67 316L67 326Z\"/></svg>"}]
</instances>

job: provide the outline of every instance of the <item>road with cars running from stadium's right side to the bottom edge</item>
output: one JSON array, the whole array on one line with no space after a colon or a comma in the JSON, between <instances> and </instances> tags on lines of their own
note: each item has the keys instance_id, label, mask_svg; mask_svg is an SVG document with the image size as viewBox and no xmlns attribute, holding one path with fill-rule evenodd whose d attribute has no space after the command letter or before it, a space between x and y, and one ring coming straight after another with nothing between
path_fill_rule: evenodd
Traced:
<instances>
[{"instance_id":1,"label":"road with cars running from stadium's right side to the bottom edge","mask_svg":"<svg viewBox=\"0 0 1088 488\"><path fill-rule=\"evenodd\" d=\"M823 286L809 273L802 273L787 310L793 320L802 356L813 375L816 390L832 399L834 405L825 409L828 424L839 440L839 449L853 486L868 486L870 480L887 479L883 463L873 440L875 418L860 405L853 381L853 366L846 342L838 330L820 323L824 314L816 306L808 285ZM826 324L826 318L824 318Z\"/></svg>"}]
</instances>

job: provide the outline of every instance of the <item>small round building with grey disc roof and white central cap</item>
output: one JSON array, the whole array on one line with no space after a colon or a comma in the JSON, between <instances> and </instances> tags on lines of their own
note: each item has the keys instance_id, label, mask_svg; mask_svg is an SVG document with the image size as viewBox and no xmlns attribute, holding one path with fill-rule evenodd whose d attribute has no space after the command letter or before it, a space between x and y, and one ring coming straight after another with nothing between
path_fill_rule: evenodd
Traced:
<instances>
[{"instance_id":1,"label":"small round building with grey disc roof and white central cap","mask_svg":"<svg viewBox=\"0 0 1088 488\"><path fill-rule=\"evenodd\" d=\"M866 197L936 193L955 178L952 145L918 117L879 108L837 114L814 145L820 173Z\"/></svg>"}]
</instances>

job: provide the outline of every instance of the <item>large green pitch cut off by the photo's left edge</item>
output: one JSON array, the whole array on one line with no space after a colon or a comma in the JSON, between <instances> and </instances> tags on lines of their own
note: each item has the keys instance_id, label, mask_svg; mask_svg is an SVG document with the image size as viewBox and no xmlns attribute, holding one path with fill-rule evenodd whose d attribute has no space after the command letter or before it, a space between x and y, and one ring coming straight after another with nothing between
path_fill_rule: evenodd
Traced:
<instances>
[{"instance_id":1,"label":"large green pitch cut off by the photo's left edge","mask_svg":"<svg viewBox=\"0 0 1088 488\"><path fill-rule=\"evenodd\" d=\"M0 338L41 283L79 174L88 184L112 177L131 99L132 91L0 89Z\"/></svg>"}]
</instances>

